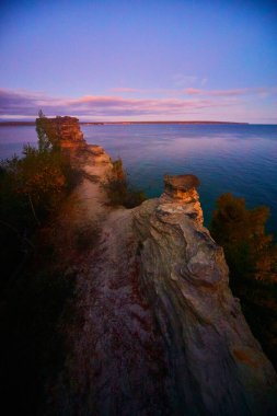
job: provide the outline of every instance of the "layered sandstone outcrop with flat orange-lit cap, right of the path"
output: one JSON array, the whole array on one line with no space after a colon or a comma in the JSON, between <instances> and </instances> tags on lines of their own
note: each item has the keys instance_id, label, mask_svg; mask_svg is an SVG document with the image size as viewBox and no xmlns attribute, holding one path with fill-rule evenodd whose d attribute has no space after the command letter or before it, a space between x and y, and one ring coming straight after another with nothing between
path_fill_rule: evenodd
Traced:
<instances>
[{"instance_id":1,"label":"layered sandstone outcrop with flat orange-lit cap, right of the path","mask_svg":"<svg viewBox=\"0 0 277 416\"><path fill-rule=\"evenodd\" d=\"M134 210L142 290L166 340L177 415L275 415L276 373L203 227L195 176L165 176Z\"/></svg>"}]
</instances>

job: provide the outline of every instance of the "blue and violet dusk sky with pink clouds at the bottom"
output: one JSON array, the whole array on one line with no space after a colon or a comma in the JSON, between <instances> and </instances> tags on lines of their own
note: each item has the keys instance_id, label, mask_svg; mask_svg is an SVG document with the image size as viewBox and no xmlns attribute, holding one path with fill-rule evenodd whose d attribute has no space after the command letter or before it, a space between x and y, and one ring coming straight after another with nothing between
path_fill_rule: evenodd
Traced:
<instances>
[{"instance_id":1,"label":"blue and violet dusk sky with pink clouds at the bottom","mask_svg":"<svg viewBox=\"0 0 277 416\"><path fill-rule=\"evenodd\" d=\"M277 0L2 0L0 119L277 124Z\"/></svg>"}]
</instances>

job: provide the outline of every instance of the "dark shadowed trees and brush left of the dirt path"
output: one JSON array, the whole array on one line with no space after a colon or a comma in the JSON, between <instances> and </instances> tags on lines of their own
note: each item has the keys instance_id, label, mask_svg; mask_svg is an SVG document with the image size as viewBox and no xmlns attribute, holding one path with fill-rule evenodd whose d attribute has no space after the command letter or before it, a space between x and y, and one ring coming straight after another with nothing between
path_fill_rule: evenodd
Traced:
<instances>
[{"instance_id":1,"label":"dark shadowed trees and brush left of the dirt path","mask_svg":"<svg viewBox=\"0 0 277 416\"><path fill-rule=\"evenodd\" d=\"M11 414L39 414L45 383L65 359L59 325L74 273L66 273L50 236L79 178L42 125L37 148L25 146L22 158L0 163L0 372Z\"/></svg>"}]
</instances>

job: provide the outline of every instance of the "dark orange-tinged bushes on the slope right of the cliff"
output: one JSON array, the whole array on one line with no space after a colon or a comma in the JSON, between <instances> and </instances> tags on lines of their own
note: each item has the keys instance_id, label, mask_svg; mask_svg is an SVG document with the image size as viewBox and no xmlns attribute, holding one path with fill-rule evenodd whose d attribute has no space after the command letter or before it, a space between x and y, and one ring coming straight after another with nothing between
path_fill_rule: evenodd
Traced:
<instances>
[{"instance_id":1,"label":"dark orange-tinged bushes on the slope right of the cliff","mask_svg":"<svg viewBox=\"0 0 277 416\"><path fill-rule=\"evenodd\" d=\"M223 194L217 201L210 232L222 245L230 286L245 317L277 367L277 245L266 234L267 207L245 208L245 200Z\"/></svg>"}]
</instances>

